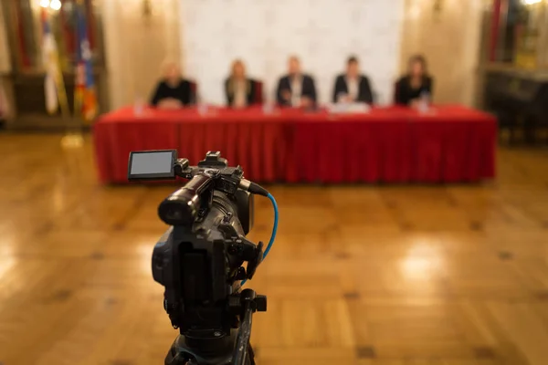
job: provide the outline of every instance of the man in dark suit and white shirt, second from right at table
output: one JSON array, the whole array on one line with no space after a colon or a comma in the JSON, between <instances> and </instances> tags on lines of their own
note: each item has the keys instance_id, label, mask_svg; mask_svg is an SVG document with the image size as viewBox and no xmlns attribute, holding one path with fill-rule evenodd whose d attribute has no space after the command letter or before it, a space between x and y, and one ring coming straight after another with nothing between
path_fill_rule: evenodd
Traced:
<instances>
[{"instance_id":1,"label":"man in dark suit and white shirt, second from right at table","mask_svg":"<svg viewBox=\"0 0 548 365\"><path fill-rule=\"evenodd\" d=\"M346 62L346 73L339 75L333 89L333 102L363 102L373 104L373 92L369 78L360 74L358 58Z\"/></svg>"}]
</instances>

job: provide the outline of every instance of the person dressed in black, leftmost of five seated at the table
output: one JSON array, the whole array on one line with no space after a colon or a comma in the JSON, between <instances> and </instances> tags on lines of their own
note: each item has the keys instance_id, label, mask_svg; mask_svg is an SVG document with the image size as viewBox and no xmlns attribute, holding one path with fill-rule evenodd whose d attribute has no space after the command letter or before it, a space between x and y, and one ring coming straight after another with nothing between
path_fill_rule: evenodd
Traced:
<instances>
[{"instance_id":1,"label":"person dressed in black, leftmost of five seated at the table","mask_svg":"<svg viewBox=\"0 0 548 365\"><path fill-rule=\"evenodd\" d=\"M163 78L154 90L151 104L163 110L176 110L194 102L190 81L181 77L181 69L174 61L163 63Z\"/></svg>"}]
</instances>

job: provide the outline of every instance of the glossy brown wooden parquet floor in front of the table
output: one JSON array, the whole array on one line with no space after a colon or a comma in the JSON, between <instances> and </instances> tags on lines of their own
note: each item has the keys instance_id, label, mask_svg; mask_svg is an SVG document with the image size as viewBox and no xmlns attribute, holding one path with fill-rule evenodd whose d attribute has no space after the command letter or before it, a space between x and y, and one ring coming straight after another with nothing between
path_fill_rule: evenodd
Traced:
<instances>
[{"instance_id":1,"label":"glossy brown wooden parquet floor in front of the table","mask_svg":"<svg viewBox=\"0 0 548 365\"><path fill-rule=\"evenodd\" d=\"M173 188L100 186L90 138L60 137L0 134L0 363L162 364L150 262ZM259 364L548 364L548 151L501 149L479 185L269 190ZM259 198L251 238L271 224Z\"/></svg>"}]
</instances>

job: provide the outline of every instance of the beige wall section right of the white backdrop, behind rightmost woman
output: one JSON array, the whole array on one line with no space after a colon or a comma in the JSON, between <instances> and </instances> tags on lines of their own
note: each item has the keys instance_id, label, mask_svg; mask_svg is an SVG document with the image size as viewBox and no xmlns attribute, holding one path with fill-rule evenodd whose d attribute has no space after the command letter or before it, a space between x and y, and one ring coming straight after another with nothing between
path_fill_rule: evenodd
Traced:
<instances>
[{"instance_id":1,"label":"beige wall section right of the white backdrop, behind rightmost woman","mask_svg":"<svg viewBox=\"0 0 548 365\"><path fill-rule=\"evenodd\" d=\"M427 57L436 78L434 100L475 103L483 0L406 0L401 71L416 53Z\"/></svg>"}]
</instances>

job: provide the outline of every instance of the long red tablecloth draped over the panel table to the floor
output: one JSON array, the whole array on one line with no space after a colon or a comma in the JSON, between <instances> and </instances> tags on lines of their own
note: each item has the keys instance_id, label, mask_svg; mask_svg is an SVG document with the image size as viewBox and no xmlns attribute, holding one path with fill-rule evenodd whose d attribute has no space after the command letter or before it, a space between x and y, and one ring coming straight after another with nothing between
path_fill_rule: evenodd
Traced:
<instances>
[{"instance_id":1,"label":"long red tablecloth draped over the panel table to the floor","mask_svg":"<svg viewBox=\"0 0 548 365\"><path fill-rule=\"evenodd\" d=\"M123 109L94 127L100 181L125 183L130 151L177 149L191 163L221 151L257 182L457 183L495 176L496 120L459 106L332 115L260 109Z\"/></svg>"}]
</instances>

